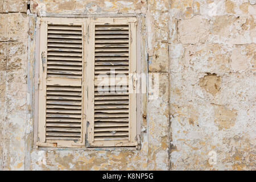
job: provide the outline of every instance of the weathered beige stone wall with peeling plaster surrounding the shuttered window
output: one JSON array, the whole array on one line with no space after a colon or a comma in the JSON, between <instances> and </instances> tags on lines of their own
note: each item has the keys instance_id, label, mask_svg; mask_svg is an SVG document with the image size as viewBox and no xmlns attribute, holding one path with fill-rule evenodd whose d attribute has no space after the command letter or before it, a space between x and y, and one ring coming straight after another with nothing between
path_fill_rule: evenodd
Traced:
<instances>
[{"instance_id":1,"label":"weathered beige stone wall with peeling plaster surrounding the shuttered window","mask_svg":"<svg viewBox=\"0 0 256 182\"><path fill-rule=\"evenodd\" d=\"M0 170L255 170L255 3L0 0ZM140 18L140 61L159 75L140 150L33 147L35 20L54 14Z\"/></svg>"}]
</instances>

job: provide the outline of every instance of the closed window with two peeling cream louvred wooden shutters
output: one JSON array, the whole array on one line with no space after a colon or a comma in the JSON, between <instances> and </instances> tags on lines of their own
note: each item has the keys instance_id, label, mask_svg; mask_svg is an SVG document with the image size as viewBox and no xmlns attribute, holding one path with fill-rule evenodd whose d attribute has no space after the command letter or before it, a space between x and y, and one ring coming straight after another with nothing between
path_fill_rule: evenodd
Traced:
<instances>
[{"instance_id":1,"label":"closed window with two peeling cream louvred wooden shutters","mask_svg":"<svg viewBox=\"0 0 256 182\"><path fill-rule=\"evenodd\" d=\"M137 146L136 18L40 18L40 147Z\"/></svg>"}]
</instances>

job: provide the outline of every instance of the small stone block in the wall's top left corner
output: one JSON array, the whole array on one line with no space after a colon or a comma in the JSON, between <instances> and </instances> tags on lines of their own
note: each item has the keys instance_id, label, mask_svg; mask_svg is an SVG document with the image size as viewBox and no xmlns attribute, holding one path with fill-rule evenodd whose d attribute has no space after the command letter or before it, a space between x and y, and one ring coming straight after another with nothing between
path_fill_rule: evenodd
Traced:
<instances>
[{"instance_id":1,"label":"small stone block in the wall's top left corner","mask_svg":"<svg viewBox=\"0 0 256 182\"><path fill-rule=\"evenodd\" d=\"M3 0L3 12L27 13L27 0Z\"/></svg>"}]
</instances>

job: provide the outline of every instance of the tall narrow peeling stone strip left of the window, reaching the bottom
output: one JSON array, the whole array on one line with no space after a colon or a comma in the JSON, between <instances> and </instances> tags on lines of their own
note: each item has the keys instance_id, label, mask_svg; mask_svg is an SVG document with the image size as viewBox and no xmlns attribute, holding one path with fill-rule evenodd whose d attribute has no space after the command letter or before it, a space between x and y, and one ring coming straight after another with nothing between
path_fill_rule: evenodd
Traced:
<instances>
[{"instance_id":1,"label":"tall narrow peeling stone strip left of the window, reaching the bottom","mask_svg":"<svg viewBox=\"0 0 256 182\"><path fill-rule=\"evenodd\" d=\"M24 169L24 134L27 123L27 42L7 43L4 169Z\"/></svg>"}]
</instances>

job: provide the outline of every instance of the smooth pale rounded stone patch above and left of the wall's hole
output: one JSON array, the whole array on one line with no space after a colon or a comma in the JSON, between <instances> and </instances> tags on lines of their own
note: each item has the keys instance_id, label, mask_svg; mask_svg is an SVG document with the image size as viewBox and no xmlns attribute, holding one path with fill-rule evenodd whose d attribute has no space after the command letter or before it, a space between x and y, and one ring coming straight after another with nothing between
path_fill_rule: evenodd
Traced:
<instances>
[{"instance_id":1,"label":"smooth pale rounded stone patch above and left of the wall's hole","mask_svg":"<svg viewBox=\"0 0 256 182\"><path fill-rule=\"evenodd\" d=\"M209 35L209 22L203 16L178 22L179 40L183 44L204 43Z\"/></svg>"}]
</instances>

